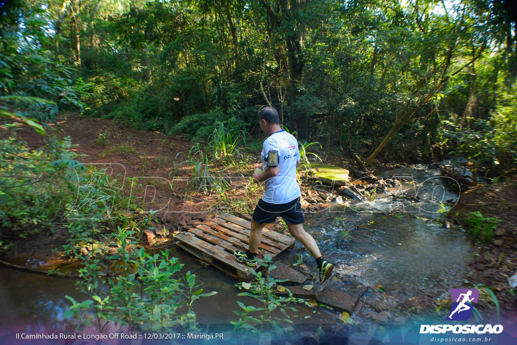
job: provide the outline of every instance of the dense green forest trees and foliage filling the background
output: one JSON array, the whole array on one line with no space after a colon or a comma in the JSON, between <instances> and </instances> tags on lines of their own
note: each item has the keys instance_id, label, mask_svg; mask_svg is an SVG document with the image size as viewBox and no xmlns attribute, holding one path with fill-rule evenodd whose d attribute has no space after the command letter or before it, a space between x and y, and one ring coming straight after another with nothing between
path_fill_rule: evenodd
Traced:
<instances>
[{"instance_id":1,"label":"dense green forest trees and foliage filling the background","mask_svg":"<svg viewBox=\"0 0 517 345\"><path fill-rule=\"evenodd\" d=\"M490 132L488 147L475 145L475 157L490 151L479 164L515 163L517 45L506 1L6 4L3 93L54 101L25 109L35 118L74 105L203 141L219 122L257 133L256 110L272 104L301 140L377 147L367 165L379 153L472 159L461 144L472 135L457 128Z\"/></svg>"}]
</instances>

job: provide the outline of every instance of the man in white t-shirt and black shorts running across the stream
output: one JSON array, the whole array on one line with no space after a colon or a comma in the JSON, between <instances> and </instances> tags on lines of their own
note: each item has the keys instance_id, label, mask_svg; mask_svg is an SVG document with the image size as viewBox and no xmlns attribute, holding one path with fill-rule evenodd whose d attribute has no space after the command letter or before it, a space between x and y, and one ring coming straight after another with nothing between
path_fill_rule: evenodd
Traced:
<instances>
[{"instance_id":1,"label":"man in white t-shirt and black shorts running across the stream","mask_svg":"<svg viewBox=\"0 0 517 345\"><path fill-rule=\"evenodd\" d=\"M254 173L253 181L265 183L265 192L258 201L251 220L247 251L234 251L235 258L248 266L256 266L255 253L262 239L262 229L282 217L294 238L312 254L318 266L320 282L332 274L334 265L325 261L314 238L303 229L305 218L300 204L300 186L296 181L296 168L300 166L298 141L280 128L275 108L264 107L258 112L260 127L268 136L261 152L263 173Z\"/></svg>"}]
</instances>

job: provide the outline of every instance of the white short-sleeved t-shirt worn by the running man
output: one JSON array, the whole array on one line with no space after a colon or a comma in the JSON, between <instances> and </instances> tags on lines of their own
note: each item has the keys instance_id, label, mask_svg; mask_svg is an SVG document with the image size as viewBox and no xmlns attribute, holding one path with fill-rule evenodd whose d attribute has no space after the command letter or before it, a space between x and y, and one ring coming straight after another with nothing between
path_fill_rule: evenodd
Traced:
<instances>
[{"instance_id":1,"label":"white short-sleeved t-shirt worn by the running man","mask_svg":"<svg viewBox=\"0 0 517 345\"><path fill-rule=\"evenodd\" d=\"M271 134L264 140L261 160L262 171L265 171L269 151L277 151L280 170L275 177L265 182L262 200L271 204L284 204L298 198L300 186L296 181L296 162L300 160L298 141L285 130Z\"/></svg>"}]
</instances>

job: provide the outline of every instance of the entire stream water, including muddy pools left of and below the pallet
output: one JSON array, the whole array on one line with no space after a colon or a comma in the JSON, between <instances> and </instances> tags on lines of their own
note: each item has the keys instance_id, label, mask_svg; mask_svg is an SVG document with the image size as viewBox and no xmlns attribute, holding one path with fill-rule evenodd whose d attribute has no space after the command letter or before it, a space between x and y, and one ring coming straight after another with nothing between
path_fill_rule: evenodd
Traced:
<instances>
[{"instance_id":1,"label":"entire stream water, including muddy pools left of and below the pallet","mask_svg":"<svg viewBox=\"0 0 517 345\"><path fill-rule=\"evenodd\" d=\"M376 196L371 194L364 201L331 203L318 212L306 213L306 230L325 259L336 265L334 279L326 285L346 288L358 282L370 287L370 291L381 286L398 301L425 294L447 296L449 289L462 287L470 272L467 262L475 248L461 231L436 221L443 215L438 211L444 207L438 201L457 200L458 195L437 177L437 170L424 166L375 174L384 178L398 176L401 183ZM177 247L171 251L185 263L183 272L196 274L205 292L218 292L194 304L199 322L227 324L236 320L236 301L253 302L237 296L241 291L234 286L234 278L203 265ZM311 271L316 267L300 243L278 259L288 265L300 264L301 259ZM32 332L69 326L62 317L69 305L65 295L78 301L84 299L74 281L0 266L0 301L4 306L0 322ZM340 322L336 311L304 305L297 305L297 309L295 323ZM357 318L360 320L360 316Z\"/></svg>"}]
</instances>

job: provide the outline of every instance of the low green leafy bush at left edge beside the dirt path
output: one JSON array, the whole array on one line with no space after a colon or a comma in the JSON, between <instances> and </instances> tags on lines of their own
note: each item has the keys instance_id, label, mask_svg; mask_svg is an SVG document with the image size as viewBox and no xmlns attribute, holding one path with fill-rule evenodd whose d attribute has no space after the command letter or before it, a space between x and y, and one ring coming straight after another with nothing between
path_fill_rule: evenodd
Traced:
<instances>
[{"instance_id":1,"label":"low green leafy bush at left edge beside the dirt path","mask_svg":"<svg viewBox=\"0 0 517 345\"><path fill-rule=\"evenodd\" d=\"M0 140L0 219L3 236L25 236L38 224L50 226L64 216L65 205L76 195L70 167L79 162L71 151L70 137L52 138L47 145L29 151L25 143L10 137Z\"/></svg>"}]
</instances>

